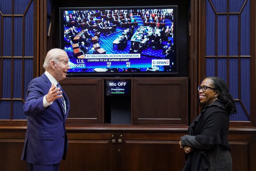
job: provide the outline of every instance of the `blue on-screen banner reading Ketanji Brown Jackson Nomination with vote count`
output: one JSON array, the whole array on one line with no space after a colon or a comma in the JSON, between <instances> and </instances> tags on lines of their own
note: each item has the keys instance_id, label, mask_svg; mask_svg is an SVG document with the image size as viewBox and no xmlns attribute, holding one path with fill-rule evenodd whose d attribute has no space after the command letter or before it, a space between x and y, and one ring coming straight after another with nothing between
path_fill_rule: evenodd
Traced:
<instances>
[{"instance_id":1,"label":"blue on-screen banner reading Ketanji Brown Jackson Nomination with vote count","mask_svg":"<svg viewBox=\"0 0 256 171\"><path fill-rule=\"evenodd\" d=\"M83 59L69 59L71 69L75 68L152 68L170 65L169 59L141 58L140 54L86 54Z\"/></svg>"}]
</instances>

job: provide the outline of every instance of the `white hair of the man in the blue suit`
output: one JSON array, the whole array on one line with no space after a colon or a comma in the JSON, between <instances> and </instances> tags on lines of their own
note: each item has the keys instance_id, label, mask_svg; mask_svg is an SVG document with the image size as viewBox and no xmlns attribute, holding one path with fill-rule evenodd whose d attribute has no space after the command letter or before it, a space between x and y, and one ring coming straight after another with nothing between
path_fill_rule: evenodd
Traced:
<instances>
[{"instance_id":1,"label":"white hair of the man in the blue suit","mask_svg":"<svg viewBox=\"0 0 256 171\"><path fill-rule=\"evenodd\" d=\"M67 55L66 51L62 49L54 48L49 50L44 60L44 65L43 65L44 69L47 69L51 66L51 61L54 61L55 63L60 62L58 58L63 54Z\"/></svg>"}]
</instances>

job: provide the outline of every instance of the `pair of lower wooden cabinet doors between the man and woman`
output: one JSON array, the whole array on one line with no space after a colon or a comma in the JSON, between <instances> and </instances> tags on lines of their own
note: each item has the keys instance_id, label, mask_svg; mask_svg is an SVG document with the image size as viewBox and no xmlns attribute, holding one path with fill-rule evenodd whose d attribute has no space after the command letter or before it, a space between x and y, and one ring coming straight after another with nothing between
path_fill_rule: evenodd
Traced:
<instances>
[{"instance_id":1,"label":"pair of lower wooden cabinet doors between the man and woman","mask_svg":"<svg viewBox=\"0 0 256 171\"><path fill-rule=\"evenodd\" d=\"M180 136L182 134L68 133L67 158L61 161L60 170L181 170L184 152L180 150Z\"/></svg>"}]
</instances>

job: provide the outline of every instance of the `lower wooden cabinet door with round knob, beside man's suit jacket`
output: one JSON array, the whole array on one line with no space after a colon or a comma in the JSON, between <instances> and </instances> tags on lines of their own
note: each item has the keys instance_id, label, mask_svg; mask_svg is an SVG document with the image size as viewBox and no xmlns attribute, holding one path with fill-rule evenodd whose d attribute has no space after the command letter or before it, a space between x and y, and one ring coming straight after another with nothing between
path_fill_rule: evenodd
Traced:
<instances>
[{"instance_id":1,"label":"lower wooden cabinet door with round knob, beside man's suit jacket","mask_svg":"<svg viewBox=\"0 0 256 171\"><path fill-rule=\"evenodd\" d=\"M116 144L116 134L68 133L67 158L60 171L116 171Z\"/></svg>"}]
</instances>

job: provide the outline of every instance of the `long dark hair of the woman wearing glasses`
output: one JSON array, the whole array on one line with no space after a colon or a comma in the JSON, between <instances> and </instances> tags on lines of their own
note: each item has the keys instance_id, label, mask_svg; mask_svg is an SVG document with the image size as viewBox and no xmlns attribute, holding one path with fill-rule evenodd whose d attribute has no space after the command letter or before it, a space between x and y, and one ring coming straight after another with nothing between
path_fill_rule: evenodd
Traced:
<instances>
[{"instance_id":1,"label":"long dark hair of the woman wearing glasses","mask_svg":"<svg viewBox=\"0 0 256 171\"><path fill-rule=\"evenodd\" d=\"M232 95L230 94L228 85L225 83L225 81L219 77L205 77L205 78L212 80L213 88L216 88L215 91L218 91L219 93L217 98L226 108L228 115L236 114L237 113L236 103ZM199 100L199 104L200 104L200 100ZM203 104L200 104L200 106L204 108Z\"/></svg>"}]
</instances>

